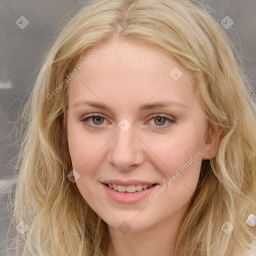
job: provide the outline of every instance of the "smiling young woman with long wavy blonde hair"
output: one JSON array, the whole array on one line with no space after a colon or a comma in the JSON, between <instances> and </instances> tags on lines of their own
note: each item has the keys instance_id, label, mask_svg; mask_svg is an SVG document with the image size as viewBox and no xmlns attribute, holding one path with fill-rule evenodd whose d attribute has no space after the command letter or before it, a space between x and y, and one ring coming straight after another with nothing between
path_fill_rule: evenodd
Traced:
<instances>
[{"instance_id":1,"label":"smiling young woman with long wavy blonde hair","mask_svg":"<svg viewBox=\"0 0 256 256\"><path fill-rule=\"evenodd\" d=\"M252 252L255 104L232 50L196 1L80 9L23 111L17 253Z\"/></svg>"}]
</instances>

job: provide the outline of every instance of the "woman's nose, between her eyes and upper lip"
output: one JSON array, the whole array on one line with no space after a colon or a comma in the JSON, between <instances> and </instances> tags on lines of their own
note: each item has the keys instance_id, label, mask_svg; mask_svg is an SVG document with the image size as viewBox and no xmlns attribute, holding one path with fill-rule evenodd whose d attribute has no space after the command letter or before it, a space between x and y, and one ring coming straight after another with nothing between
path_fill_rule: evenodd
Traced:
<instances>
[{"instance_id":1,"label":"woman's nose, between her eyes and upper lip","mask_svg":"<svg viewBox=\"0 0 256 256\"><path fill-rule=\"evenodd\" d=\"M107 160L119 170L131 170L144 161L143 143L133 133L133 125L126 131L117 126Z\"/></svg>"}]
</instances>

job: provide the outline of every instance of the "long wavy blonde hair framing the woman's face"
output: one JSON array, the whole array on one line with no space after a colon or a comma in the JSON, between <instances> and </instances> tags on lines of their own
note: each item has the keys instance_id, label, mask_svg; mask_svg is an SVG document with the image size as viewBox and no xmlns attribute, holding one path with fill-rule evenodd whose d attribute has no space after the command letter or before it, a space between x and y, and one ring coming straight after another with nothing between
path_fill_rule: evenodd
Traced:
<instances>
[{"instance_id":1,"label":"long wavy blonde hair framing the woman's face","mask_svg":"<svg viewBox=\"0 0 256 256\"><path fill-rule=\"evenodd\" d=\"M52 43L23 109L13 219L29 228L17 232L17 255L107 253L107 224L67 178L68 82L62 82L82 54L114 33L163 49L192 71L207 132L214 125L221 132L215 156L202 162L175 255L244 253L256 239L255 227L246 223L256 213L256 111L239 54L238 64L221 25L198 1L92 0ZM233 225L229 233L222 231L222 225L231 226L226 221Z\"/></svg>"}]
</instances>

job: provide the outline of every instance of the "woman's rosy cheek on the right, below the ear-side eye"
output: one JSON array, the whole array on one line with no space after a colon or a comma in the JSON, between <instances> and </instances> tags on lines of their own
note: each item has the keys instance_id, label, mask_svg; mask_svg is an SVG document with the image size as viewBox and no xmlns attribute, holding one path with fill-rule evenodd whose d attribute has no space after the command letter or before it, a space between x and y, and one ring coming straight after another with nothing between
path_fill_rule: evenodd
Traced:
<instances>
[{"instance_id":1,"label":"woman's rosy cheek on the right, below the ear-side eye","mask_svg":"<svg viewBox=\"0 0 256 256\"><path fill-rule=\"evenodd\" d=\"M200 139L191 135L193 132L181 131L155 147L155 154L161 160L157 160L158 171L164 178L149 201L165 205L162 207L166 208L166 217L188 202L198 184L202 161ZM172 206L166 205L166 201Z\"/></svg>"}]
</instances>

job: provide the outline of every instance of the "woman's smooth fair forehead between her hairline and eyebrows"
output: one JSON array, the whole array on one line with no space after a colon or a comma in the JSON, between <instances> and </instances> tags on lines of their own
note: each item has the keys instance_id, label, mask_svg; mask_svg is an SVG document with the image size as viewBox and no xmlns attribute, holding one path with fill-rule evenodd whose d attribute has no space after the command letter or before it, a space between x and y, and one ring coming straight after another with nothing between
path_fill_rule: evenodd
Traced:
<instances>
[{"instance_id":1,"label":"woman's smooth fair forehead between her hairline and eyebrows","mask_svg":"<svg viewBox=\"0 0 256 256\"><path fill-rule=\"evenodd\" d=\"M95 48L97 54L90 55ZM123 39L95 48L76 63L78 73L69 84L69 101L91 97L138 104L162 97L194 101L192 74L162 49Z\"/></svg>"}]
</instances>

